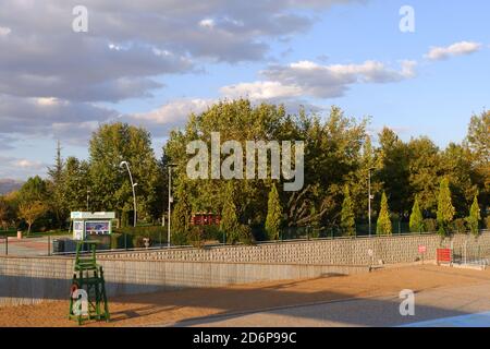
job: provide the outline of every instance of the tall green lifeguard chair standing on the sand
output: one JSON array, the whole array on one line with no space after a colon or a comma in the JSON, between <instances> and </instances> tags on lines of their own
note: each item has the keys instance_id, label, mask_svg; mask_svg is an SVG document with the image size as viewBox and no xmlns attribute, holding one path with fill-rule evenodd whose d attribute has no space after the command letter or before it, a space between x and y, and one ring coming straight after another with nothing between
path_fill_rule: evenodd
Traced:
<instances>
[{"instance_id":1,"label":"tall green lifeguard chair standing on the sand","mask_svg":"<svg viewBox=\"0 0 490 349\"><path fill-rule=\"evenodd\" d=\"M84 246L86 252L84 252ZM70 320L110 320L103 269L96 262L96 241L78 241L70 294Z\"/></svg>"}]
</instances>

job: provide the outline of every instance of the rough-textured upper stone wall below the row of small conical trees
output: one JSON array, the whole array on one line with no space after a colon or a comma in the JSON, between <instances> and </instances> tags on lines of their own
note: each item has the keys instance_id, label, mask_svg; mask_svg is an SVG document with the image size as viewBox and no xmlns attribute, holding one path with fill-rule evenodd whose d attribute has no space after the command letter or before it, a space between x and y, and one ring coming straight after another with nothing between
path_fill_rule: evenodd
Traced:
<instances>
[{"instance_id":1,"label":"rough-textured upper stone wall below the row of small conical trees","mask_svg":"<svg viewBox=\"0 0 490 349\"><path fill-rule=\"evenodd\" d=\"M192 262L255 262L317 265L367 265L368 251L373 260L385 264L412 263L420 257L418 246L427 246L426 260L436 260L438 248L464 248L490 253L490 232L482 232L478 239L467 234L456 234L441 239L438 234L406 234L357 239L334 239L314 241L290 241L261 243L253 246L213 246L206 249L171 249L101 254L99 258L121 257L137 261L192 261Z\"/></svg>"}]
</instances>

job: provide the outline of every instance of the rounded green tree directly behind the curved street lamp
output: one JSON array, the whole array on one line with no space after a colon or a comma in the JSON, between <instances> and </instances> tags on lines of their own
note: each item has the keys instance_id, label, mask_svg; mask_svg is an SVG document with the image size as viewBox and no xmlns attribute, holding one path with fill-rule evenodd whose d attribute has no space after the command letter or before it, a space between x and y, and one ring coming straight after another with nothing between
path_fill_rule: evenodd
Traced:
<instances>
[{"instance_id":1,"label":"rounded green tree directly behind the curved street lamp","mask_svg":"<svg viewBox=\"0 0 490 349\"><path fill-rule=\"evenodd\" d=\"M151 147L148 131L126 123L103 124L94 133L89 145L90 181L94 209L133 210L131 181L121 161L127 161L136 186L138 219L151 221L151 206L161 193L156 192L161 172Z\"/></svg>"}]
</instances>

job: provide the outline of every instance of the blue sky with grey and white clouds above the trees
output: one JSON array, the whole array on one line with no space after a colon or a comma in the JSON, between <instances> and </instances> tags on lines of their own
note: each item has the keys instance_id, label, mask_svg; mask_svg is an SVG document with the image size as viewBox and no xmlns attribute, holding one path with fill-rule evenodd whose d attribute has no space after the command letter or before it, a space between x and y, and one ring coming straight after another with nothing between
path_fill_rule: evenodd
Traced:
<instances>
[{"instance_id":1,"label":"blue sky with grey and white clouds above the trees","mask_svg":"<svg viewBox=\"0 0 490 349\"><path fill-rule=\"evenodd\" d=\"M79 8L84 7L82 12ZM84 9L86 10L86 16ZM98 125L170 130L220 99L332 105L440 147L490 106L486 0L0 0L0 179L87 158Z\"/></svg>"}]
</instances>

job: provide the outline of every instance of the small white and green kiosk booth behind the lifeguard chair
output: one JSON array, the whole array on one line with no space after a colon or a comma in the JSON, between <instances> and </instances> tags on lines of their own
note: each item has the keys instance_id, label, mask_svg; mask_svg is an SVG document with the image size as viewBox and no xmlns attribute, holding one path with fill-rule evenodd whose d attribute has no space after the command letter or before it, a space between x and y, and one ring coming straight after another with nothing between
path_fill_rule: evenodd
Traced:
<instances>
[{"instance_id":1,"label":"small white and green kiosk booth behind the lifeguard chair","mask_svg":"<svg viewBox=\"0 0 490 349\"><path fill-rule=\"evenodd\" d=\"M112 233L113 212L72 212L73 240L96 240L97 237L110 237Z\"/></svg>"}]
</instances>

